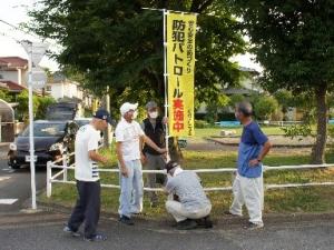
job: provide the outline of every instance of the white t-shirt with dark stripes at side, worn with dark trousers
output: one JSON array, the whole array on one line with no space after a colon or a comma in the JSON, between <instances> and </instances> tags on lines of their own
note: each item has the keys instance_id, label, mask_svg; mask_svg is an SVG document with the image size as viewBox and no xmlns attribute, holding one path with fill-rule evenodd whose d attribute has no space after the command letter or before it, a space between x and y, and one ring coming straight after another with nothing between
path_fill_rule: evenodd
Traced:
<instances>
[{"instance_id":1,"label":"white t-shirt with dark stripes at side, worn with dark trousers","mask_svg":"<svg viewBox=\"0 0 334 250\"><path fill-rule=\"evenodd\" d=\"M91 124L82 126L76 137L76 170L79 181L98 181L98 164L89 158L88 152L99 148L100 132Z\"/></svg>"}]
</instances>

